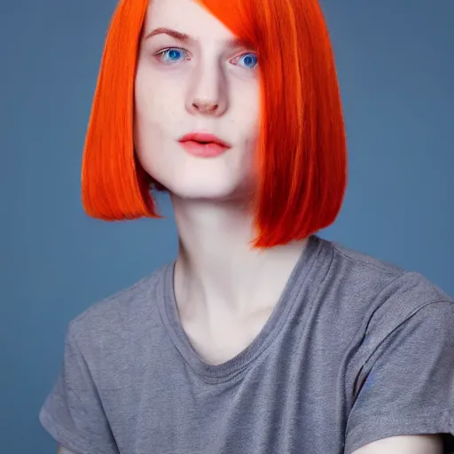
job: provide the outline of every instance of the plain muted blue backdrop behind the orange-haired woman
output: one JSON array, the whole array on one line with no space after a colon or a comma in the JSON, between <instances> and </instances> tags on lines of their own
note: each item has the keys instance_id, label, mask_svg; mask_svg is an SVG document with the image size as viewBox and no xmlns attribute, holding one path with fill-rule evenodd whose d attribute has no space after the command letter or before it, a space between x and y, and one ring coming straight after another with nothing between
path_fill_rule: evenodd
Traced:
<instances>
[{"instance_id":1,"label":"plain muted blue backdrop behind the orange-haired woman","mask_svg":"<svg viewBox=\"0 0 454 454\"><path fill-rule=\"evenodd\" d=\"M323 236L454 294L454 2L322 0L350 176ZM0 451L55 452L37 414L68 321L176 254L163 221L102 223L80 202L82 145L114 0L0 5Z\"/></svg>"}]
</instances>

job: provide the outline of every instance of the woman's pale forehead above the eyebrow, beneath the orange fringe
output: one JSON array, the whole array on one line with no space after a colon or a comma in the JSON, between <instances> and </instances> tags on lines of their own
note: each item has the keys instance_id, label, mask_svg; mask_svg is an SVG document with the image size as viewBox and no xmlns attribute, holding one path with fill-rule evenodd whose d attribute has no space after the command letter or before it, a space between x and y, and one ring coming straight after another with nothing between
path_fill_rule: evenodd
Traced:
<instances>
[{"instance_id":1,"label":"woman's pale forehead above the eyebrow, beneath the orange fringe","mask_svg":"<svg viewBox=\"0 0 454 454\"><path fill-rule=\"evenodd\" d=\"M196 0L151 0L145 16L145 34L159 27L196 39L223 41L233 37L231 31Z\"/></svg>"}]
</instances>

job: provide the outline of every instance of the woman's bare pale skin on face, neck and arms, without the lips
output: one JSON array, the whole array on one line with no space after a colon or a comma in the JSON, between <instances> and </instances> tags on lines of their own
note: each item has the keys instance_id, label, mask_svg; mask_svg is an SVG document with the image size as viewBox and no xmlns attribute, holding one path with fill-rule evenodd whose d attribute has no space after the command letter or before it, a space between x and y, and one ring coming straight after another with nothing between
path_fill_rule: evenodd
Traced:
<instances>
[{"instance_id":1,"label":"woman's bare pale skin on face, neck and arms, without the lips","mask_svg":"<svg viewBox=\"0 0 454 454\"><path fill-rule=\"evenodd\" d=\"M192 0L154 0L135 85L137 157L168 188L175 212L181 322L210 364L237 355L259 333L306 244L250 247L258 66L247 58L254 51L234 40ZM192 131L215 134L231 149L215 158L194 157L177 141ZM73 454L62 447L58 452ZM395 436L355 454L442 454L442 441L439 435Z\"/></svg>"}]
</instances>

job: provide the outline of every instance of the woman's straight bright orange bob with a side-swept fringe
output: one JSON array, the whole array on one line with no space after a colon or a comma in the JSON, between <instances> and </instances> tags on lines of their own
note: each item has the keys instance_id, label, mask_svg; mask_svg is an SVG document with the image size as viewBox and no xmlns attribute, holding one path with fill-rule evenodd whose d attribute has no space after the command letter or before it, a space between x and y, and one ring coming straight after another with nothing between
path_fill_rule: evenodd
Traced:
<instances>
[{"instance_id":1,"label":"woman's straight bright orange bob with a side-swept fringe","mask_svg":"<svg viewBox=\"0 0 454 454\"><path fill-rule=\"evenodd\" d=\"M253 247L304 239L334 222L347 184L340 90L321 8L317 0L197 1L258 53ZM133 144L134 81L148 4L121 0L114 12L85 140L82 203L88 215L107 221L161 217L153 180Z\"/></svg>"}]
</instances>

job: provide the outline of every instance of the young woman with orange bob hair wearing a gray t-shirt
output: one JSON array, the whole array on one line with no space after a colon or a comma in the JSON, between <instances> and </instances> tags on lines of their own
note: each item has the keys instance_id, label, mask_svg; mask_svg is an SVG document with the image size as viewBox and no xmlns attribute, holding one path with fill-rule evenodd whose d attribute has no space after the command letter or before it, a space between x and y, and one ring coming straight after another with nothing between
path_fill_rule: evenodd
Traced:
<instances>
[{"instance_id":1,"label":"young woman with orange bob hair wearing a gray t-shirt","mask_svg":"<svg viewBox=\"0 0 454 454\"><path fill-rule=\"evenodd\" d=\"M82 166L106 220L176 261L69 325L40 419L74 454L435 454L454 432L454 301L317 237L346 184L317 0L121 0Z\"/></svg>"}]
</instances>

